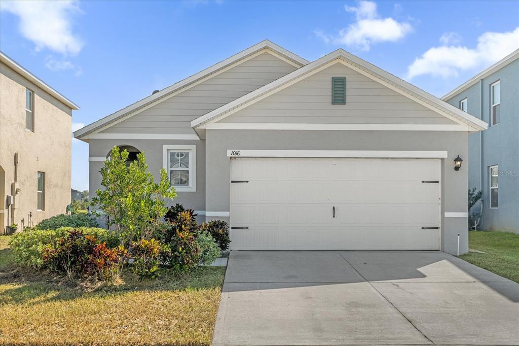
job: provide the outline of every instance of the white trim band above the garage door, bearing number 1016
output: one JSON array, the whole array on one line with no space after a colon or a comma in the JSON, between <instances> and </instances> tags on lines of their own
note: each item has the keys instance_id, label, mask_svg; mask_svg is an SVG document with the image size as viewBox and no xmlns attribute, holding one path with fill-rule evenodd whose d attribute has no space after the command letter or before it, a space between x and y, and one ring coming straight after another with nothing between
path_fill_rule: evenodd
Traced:
<instances>
[{"instance_id":1,"label":"white trim band above the garage door, bearing number 1016","mask_svg":"<svg viewBox=\"0 0 519 346\"><path fill-rule=\"evenodd\" d=\"M228 157L445 158L446 151L396 150L227 150Z\"/></svg>"}]
</instances>

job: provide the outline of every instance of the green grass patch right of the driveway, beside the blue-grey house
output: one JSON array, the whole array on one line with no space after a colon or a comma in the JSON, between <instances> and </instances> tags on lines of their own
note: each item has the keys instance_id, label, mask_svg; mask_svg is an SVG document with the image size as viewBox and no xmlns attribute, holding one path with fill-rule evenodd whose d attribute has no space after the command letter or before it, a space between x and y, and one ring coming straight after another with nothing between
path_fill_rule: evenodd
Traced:
<instances>
[{"instance_id":1,"label":"green grass patch right of the driveway, beside the blue-grey house","mask_svg":"<svg viewBox=\"0 0 519 346\"><path fill-rule=\"evenodd\" d=\"M509 232L469 232L469 252L460 257L500 276L519 283L519 234Z\"/></svg>"}]
</instances>

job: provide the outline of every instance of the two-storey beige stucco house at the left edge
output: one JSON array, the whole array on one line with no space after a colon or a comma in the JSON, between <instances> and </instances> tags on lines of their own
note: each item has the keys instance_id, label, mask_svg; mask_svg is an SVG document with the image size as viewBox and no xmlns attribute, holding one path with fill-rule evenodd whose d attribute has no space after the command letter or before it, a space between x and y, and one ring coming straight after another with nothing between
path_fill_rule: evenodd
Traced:
<instances>
[{"instance_id":1,"label":"two-storey beige stucco house at the left edge","mask_svg":"<svg viewBox=\"0 0 519 346\"><path fill-rule=\"evenodd\" d=\"M72 110L78 107L0 52L0 233L65 212Z\"/></svg>"}]
</instances>

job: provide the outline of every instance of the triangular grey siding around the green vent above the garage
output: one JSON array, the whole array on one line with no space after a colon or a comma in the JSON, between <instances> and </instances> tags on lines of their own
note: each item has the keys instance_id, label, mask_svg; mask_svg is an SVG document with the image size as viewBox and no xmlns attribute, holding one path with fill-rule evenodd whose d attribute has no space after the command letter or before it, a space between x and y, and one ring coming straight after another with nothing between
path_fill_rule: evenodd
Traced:
<instances>
[{"instance_id":1,"label":"triangular grey siding around the green vent above the garage","mask_svg":"<svg viewBox=\"0 0 519 346\"><path fill-rule=\"evenodd\" d=\"M346 104L332 104L332 77L346 77ZM220 123L456 124L336 63Z\"/></svg>"}]
</instances>

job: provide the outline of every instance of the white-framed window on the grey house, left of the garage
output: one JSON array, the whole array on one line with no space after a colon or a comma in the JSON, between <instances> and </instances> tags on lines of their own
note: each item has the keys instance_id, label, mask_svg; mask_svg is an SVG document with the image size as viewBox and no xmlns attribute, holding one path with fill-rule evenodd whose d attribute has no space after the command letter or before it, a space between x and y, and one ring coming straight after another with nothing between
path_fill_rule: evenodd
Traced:
<instances>
[{"instance_id":1,"label":"white-framed window on the grey house, left of the garage","mask_svg":"<svg viewBox=\"0 0 519 346\"><path fill-rule=\"evenodd\" d=\"M176 191L196 191L195 145L164 145L165 166Z\"/></svg>"}]
</instances>

